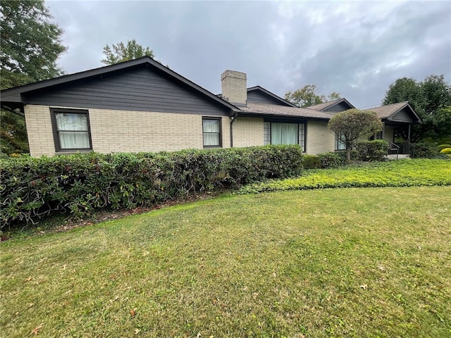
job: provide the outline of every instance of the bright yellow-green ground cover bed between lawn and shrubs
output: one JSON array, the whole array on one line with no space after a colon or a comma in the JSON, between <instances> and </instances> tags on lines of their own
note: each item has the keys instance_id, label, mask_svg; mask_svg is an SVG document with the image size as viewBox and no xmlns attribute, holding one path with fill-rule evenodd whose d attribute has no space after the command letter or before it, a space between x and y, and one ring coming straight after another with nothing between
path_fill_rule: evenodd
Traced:
<instances>
[{"instance_id":1,"label":"bright yellow-green ground cover bed between lawn and shrubs","mask_svg":"<svg viewBox=\"0 0 451 338\"><path fill-rule=\"evenodd\" d=\"M349 187L419 187L451 185L451 161L406 159L354 167L305 170L302 177L249 184L240 193Z\"/></svg>"}]
</instances>

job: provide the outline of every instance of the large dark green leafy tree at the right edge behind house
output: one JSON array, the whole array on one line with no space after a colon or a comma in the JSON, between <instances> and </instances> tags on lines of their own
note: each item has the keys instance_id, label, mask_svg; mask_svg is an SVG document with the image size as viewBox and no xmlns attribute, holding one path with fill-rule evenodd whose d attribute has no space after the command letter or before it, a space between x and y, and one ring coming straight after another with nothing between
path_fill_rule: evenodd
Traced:
<instances>
[{"instance_id":1,"label":"large dark green leafy tree at the right edge behind house","mask_svg":"<svg viewBox=\"0 0 451 338\"><path fill-rule=\"evenodd\" d=\"M422 82L403 77L390 84L383 105L409 101L423 123L413 125L410 140L451 137L451 86L443 75L429 75ZM400 131L407 140L407 132Z\"/></svg>"}]
</instances>

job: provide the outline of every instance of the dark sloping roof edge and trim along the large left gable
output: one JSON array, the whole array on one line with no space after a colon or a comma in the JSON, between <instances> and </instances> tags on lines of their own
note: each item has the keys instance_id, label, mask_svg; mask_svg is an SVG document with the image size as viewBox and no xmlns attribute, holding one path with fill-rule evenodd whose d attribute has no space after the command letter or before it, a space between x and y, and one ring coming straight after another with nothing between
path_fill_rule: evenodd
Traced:
<instances>
[{"instance_id":1,"label":"dark sloping roof edge and trim along the large left gable","mask_svg":"<svg viewBox=\"0 0 451 338\"><path fill-rule=\"evenodd\" d=\"M21 103L22 102L21 94L24 94L26 92L31 92L36 89L47 89L50 87L57 86L59 84L66 84L68 82L87 79L89 77L94 77L94 76L98 76L98 75L104 75L106 73L113 73L118 70L124 70L126 68L132 68L132 67L139 66L139 65L147 65L150 67L154 67L154 68L160 70L165 75L172 77L174 80L177 80L178 82L185 84L186 86L191 87L192 89L195 89L195 91L203 94L204 96L209 97L209 99L216 101L216 103L221 104L221 105L225 106L226 108L229 108L231 110L234 110L237 108L233 104L230 104L227 101L224 101L223 99L218 98L218 96L216 96L215 94L200 87L198 84L195 84L194 82L188 80L186 77L183 77L182 75L180 75L178 73L175 73L173 70L165 67L164 65L155 61L153 58L151 58L149 56L143 56L142 58L136 58L135 60L131 60L131 61L116 63L114 65L106 65L101 68L86 70L84 72L70 74L70 75L63 75L60 77L55 77L54 79L50 79L50 80L39 81L39 82L31 83L31 84L25 84L20 87L14 87L14 88L2 90L1 91L1 101L2 101L2 104L5 102Z\"/></svg>"}]
</instances>

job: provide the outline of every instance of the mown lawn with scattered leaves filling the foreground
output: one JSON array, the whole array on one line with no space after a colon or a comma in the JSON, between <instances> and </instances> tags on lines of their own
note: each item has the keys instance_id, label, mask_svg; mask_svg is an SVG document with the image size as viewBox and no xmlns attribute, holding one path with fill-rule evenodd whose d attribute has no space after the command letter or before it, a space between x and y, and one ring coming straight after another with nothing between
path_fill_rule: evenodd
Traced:
<instances>
[{"instance_id":1,"label":"mown lawn with scattered leaves filling the foreground","mask_svg":"<svg viewBox=\"0 0 451 338\"><path fill-rule=\"evenodd\" d=\"M2 337L451 337L451 187L223 196L1 244Z\"/></svg>"}]
</instances>

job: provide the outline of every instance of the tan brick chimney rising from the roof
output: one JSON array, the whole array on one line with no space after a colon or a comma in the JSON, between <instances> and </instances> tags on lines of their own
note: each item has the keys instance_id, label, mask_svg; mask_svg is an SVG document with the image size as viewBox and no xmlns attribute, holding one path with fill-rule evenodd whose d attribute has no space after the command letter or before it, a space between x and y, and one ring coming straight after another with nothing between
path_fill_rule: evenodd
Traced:
<instances>
[{"instance_id":1,"label":"tan brick chimney rising from the roof","mask_svg":"<svg viewBox=\"0 0 451 338\"><path fill-rule=\"evenodd\" d=\"M236 106L247 106L246 73L225 70L221 74L222 98Z\"/></svg>"}]
</instances>

